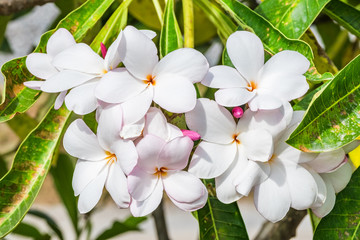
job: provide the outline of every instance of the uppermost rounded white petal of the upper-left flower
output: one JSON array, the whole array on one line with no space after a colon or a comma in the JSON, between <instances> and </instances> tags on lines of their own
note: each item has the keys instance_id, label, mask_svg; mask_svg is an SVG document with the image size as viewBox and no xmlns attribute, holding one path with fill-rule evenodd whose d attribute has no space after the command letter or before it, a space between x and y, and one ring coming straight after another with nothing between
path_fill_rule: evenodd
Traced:
<instances>
[{"instance_id":1,"label":"uppermost rounded white petal of the upper-left flower","mask_svg":"<svg viewBox=\"0 0 360 240\"><path fill-rule=\"evenodd\" d=\"M75 45L75 39L71 33L65 28L59 28L51 37L49 38L46 45L46 52L52 58L55 57L58 53L64 51L65 49Z\"/></svg>"}]
</instances>

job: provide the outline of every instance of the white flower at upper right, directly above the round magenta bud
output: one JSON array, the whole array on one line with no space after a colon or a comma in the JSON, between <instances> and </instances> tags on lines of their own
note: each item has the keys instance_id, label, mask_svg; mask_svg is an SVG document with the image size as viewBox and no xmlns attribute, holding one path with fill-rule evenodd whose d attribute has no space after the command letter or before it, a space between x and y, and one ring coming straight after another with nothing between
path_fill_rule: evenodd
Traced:
<instances>
[{"instance_id":1,"label":"white flower at upper right, directly above the round magenta bud","mask_svg":"<svg viewBox=\"0 0 360 240\"><path fill-rule=\"evenodd\" d=\"M230 35L226 48L236 69L215 66L201 82L215 93L218 104L226 107L249 104L252 111L276 109L306 93L309 86L303 74L309 61L295 51L282 51L264 64L264 47L253 33L237 31Z\"/></svg>"}]
</instances>

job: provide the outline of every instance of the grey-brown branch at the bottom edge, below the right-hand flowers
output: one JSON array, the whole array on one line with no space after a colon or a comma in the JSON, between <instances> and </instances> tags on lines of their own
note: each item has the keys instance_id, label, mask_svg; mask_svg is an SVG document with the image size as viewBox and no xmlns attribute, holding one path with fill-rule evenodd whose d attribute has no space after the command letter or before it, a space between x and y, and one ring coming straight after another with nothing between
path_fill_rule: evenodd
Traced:
<instances>
[{"instance_id":1,"label":"grey-brown branch at the bottom edge, below the right-hand flowers","mask_svg":"<svg viewBox=\"0 0 360 240\"><path fill-rule=\"evenodd\" d=\"M287 240L296 235L296 229L307 211L290 209L285 218L277 223L265 222L255 240Z\"/></svg>"}]
</instances>

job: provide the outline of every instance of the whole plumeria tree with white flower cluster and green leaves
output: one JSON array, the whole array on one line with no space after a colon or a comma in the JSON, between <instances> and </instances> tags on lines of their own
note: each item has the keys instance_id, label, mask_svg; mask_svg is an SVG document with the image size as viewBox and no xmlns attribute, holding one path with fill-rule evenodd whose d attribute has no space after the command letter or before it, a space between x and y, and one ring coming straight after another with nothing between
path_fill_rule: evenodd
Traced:
<instances>
[{"instance_id":1,"label":"whole plumeria tree with white flower cluster and green leaves","mask_svg":"<svg viewBox=\"0 0 360 240\"><path fill-rule=\"evenodd\" d=\"M359 9L84 2L1 68L0 121L24 137L0 180L0 237L18 229L51 172L77 237L90 231L79 213L108 193L134 218L97 239L151 213L161 224L164 196L193 214L201 240L248 239L237 201L250 195L268 220L257 239L291 238L306 214L314 239L358 239ZM26 112L44 92L37 122ZM68 169L72 184L61 182Z\"/></svg>"}]
</instances>

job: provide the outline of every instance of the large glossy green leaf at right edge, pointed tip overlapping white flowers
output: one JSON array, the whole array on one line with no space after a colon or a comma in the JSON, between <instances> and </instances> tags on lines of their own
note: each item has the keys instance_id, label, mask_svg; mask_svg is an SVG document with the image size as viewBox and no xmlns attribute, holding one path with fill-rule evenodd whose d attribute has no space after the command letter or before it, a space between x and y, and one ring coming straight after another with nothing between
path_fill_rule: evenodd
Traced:
<instances>
[{"instance_id":1,"label":"large glossy green leaf at right edge, pointed tip overlapping white flowers","mask_svg":"<svg viewBox=\"0 0 360 240\"><path fill-rule=\"evenodd\" d=\"M308 152L331 151L360 135L360 56L350 62L310 104L286 141Z\"/></svg>"}]
</instances>

